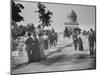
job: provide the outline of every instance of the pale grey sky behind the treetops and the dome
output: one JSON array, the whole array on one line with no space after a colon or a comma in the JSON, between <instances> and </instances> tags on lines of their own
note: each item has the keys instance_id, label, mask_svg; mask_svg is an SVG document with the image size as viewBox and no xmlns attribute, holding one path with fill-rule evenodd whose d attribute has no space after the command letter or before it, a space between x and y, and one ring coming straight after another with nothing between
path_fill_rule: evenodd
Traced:
<instances>
[{"instance_id":1,"label":"pale grey sky behind the treetops and the dome","mask_svg":"<svg viewBox=\"0 0 100 75\"><path fill-rule=\"evenodd\" d=\"M24 9L20 13L23 16L24 21L19 22L19 25L27 25L28 23L33 23L38 26L39 17L37 2L21 1L18 2L24 6ZM77 21L79 27L82 30L89 30L90 28L95 28L95 6L85 6L85 5L72 5L72 4L55 4L55 3L42 3L46 6L46 10L50 10L53 13L51 23L52 27L57 32L64 31L64 23L67 21L67 15L73 9L77 14Z\"/></svg>"}]
</instances>

